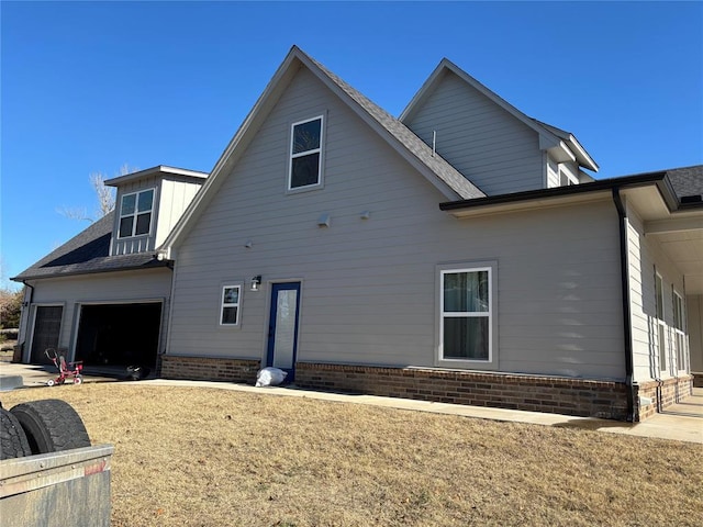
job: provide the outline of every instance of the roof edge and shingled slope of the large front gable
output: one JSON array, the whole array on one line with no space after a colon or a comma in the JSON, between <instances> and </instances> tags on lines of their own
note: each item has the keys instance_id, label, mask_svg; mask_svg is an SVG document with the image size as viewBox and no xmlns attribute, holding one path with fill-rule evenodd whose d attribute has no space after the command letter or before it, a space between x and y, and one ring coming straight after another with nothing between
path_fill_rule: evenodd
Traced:
<instances>
[{"instance_id":1,"label":"roof edge and shingled slope of the large front gable","mask_svg":"<svg viewBox=\"0 0 703 527\"><path fill-rule=\"evenodd\" d=\"M386 141L447 198L470 199L486 195L449 162L433 153L431 147L398 119L362 96L320 63L313 60L299 47L293 46L215 164L203 188L166 239L164 247L170 247L180 239L190 228L192 220L200 215L210 200L212 200L216 189L222 184L222 180L226 178L230 169L236 165L239 156L252 142L258 128L300 68L306 68L311 71L342 102L365 121L380 138Z\"/></svg>"}]
</instances>

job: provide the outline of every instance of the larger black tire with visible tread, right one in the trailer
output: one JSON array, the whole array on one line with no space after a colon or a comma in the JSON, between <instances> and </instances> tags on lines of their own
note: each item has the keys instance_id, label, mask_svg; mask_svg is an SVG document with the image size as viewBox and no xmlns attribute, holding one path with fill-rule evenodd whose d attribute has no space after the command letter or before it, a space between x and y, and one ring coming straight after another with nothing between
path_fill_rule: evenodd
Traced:
<instances>
[{"instance_id":1,"label":"larger black tire with visible tread, right one in the trailer","mask_svg":"<svg viewBox=\"0 0 703 527\"><path fill-rule=\"evenodd\" d=\"M57 400L18 404L10 412L26 434L32 453L49 453L90 446L86 425L70 404Z\"/></svg>"}]
</instances>

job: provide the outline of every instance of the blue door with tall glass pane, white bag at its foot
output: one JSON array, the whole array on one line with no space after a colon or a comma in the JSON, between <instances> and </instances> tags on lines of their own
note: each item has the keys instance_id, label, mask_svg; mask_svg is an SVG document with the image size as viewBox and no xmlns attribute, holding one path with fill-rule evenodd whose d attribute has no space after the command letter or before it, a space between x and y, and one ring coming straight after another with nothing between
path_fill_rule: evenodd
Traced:
<instances>
[{"instance_id":1,"label":"blue door with tall glass pane, white bag at its foot","mask_svg":"<svg viewBox=\"0 0 703 527\"><path fill-rule=\"evenodd\" d=\"M295 379L299 311L300 282L275 283L268 318L266 366L287 371L286 382Z\"/></svg>"}]
</instances>

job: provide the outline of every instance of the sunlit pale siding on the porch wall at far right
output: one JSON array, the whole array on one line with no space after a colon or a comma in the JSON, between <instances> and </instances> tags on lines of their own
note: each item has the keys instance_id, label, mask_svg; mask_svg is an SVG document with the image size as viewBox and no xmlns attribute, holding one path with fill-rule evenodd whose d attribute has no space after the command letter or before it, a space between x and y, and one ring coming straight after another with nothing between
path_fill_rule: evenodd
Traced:
<instances>
[{"instance_id":1,"label":"sunlit pale siding on the porch wall at far right","mask_svg":"<svg viewBox=\"0 0 703 527\"><path fill-rule=\"evenodd\" d=\"M672 354L674 348L671 288L673 285L677 293L685 300L683 278L656 239L644 235L644 223L632 206L627 208L627 223L634 379L643 382L676 377L678 369L676 354ZM663 282L663 319L668 347L666 371L661 371L659 365L659 323L655 293L657 272L661 274Z\"/></svg>"}]
</instances>

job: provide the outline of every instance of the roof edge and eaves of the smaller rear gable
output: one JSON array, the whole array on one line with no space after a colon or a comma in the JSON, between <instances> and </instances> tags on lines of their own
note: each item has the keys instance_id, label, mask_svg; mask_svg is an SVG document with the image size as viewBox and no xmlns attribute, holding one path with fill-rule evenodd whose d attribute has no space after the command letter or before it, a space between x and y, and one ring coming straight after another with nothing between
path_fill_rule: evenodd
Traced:
<instances>
[{"instance_id":1,"label":"roof edge and eaves of the smaller rear gable","mask_svg":"<svg viewBox=\"0 0 703 527\"><path fill-rule=\"evenodd\" d=\"M561 155L566 155L571 160L577 161L579 166L589 170L598 171L598 165L595 164L593 158L591 158L588 152L585 152L585 148L583 148L583 146L581 146L581 144L577 141L573 134L557 128L556 126L543 123L535 119L528 117L447 58L442 59L439 65L420 88L420 91L415 93L415 97L413 97L405 110L403 110L400 115L400 120L402 122L406 123L414 116L414 114L424 105L427 98L439 86L443 77L447 72L453 72L461 80L464 80L467 85L469 85L470 87L486 96L489 100L498 104L500 108L505 110L512 116L524 123L529 128L534 130L539 135L539 147L542 149L558 149Z\"/></svg>"}]
</instances>

